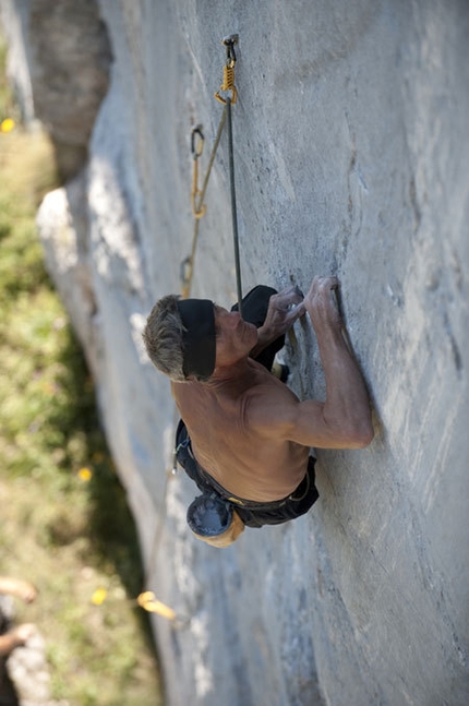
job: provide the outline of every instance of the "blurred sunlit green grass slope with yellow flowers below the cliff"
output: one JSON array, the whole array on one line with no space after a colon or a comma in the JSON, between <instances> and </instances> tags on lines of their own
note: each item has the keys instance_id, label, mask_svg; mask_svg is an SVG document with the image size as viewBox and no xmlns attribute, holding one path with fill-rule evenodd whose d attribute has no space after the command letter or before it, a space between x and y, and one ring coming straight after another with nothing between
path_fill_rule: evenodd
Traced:
<instances>
[{"instance_id":1,"label":"blurred sunlit green grass slope with yellow flowers below the cliff","mask_svg":"<svg viewBox=\"0 0 469 706\"><path fill-rule=\"evenodd\" d=\"M0 122L11 116L1 79ZM46 639L53 698L158 706L135 527L35 230L52 165L39 131L0 133L0 573L39 590L16 622Z\"/></svg>"}]
</instances>

